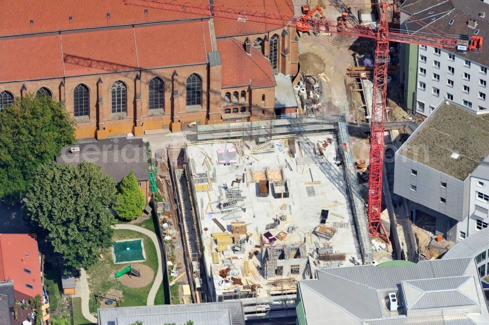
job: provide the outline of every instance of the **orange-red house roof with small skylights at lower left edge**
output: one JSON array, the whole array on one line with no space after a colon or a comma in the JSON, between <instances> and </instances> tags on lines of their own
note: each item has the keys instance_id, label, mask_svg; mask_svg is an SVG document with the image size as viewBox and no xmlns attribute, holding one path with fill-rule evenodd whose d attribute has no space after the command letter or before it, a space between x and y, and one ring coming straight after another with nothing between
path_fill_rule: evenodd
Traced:
<instances>
[{"instance_id":1,"label":"orange-red house roof with small skylights at lower left edge","mask_svg":"<svg viewBox=\"0 0 489 325\"><path fill-rule=\"evenodd\" d=\"M43 297L37 240L27 234L0 234L0 281L14 282L15 298Z\"/></svg>"}]
</instances>

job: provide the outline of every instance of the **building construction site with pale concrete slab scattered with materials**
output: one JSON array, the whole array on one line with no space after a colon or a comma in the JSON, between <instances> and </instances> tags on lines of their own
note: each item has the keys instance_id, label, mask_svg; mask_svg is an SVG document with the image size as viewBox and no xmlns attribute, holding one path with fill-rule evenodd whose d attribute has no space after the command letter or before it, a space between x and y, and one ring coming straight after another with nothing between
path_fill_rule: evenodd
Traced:
<instances>
[{"instance_id":1,"label":"building construction site with pale concrete slab scattered with materials","mask_svg":"<svg viewBox=\"0 0 489 325\"><path fill-rule=\"evenodd\" d=\"M250 321L293 320L296 282L316 268L393 259L369 237L344 116L192 136L169 157L198 301L240 300Z\"/></svg>"}]
</instances>

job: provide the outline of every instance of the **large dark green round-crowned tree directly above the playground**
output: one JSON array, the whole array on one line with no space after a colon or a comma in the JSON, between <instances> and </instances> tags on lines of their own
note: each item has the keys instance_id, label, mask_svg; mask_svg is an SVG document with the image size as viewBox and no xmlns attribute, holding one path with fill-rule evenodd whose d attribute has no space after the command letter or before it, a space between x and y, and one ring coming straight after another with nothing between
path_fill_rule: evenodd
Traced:
<instances>
[{"instance_id":1,"label":"large dark green round-crowned tree directly above the playground","mask_svg":"<svg viewBox=\"0 0 489 325\"><path fill-rule=\"evenodd\" d=\"M67 272L87 268L101 248L112 243L109 207L116 200L115 180L89 162L49 162L39 166L26 194L25 217L65 260Z\"/></svg>"}]
</instances>

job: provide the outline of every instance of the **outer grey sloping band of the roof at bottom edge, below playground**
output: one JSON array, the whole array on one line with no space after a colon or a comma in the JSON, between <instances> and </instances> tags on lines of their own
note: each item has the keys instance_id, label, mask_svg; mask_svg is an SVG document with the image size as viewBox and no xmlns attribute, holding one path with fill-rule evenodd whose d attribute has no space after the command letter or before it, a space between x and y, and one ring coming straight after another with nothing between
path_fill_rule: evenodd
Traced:
<instances>
[{"instance_id":1,"label":"outer grey sloping band of the roof at bottom edge, below playground","mask_svg":"<svg viewBox=\"0 0 489 325\"><path fill-rule=\"evenodd\" d=\"M122 316L185 314L190 312L212 312L228 310L232 325L244 325L243 305L241 302L193 303L178 305L155 305L98 309L98 325L114 325L116 318Z\"/></svg>"}]
</instances>

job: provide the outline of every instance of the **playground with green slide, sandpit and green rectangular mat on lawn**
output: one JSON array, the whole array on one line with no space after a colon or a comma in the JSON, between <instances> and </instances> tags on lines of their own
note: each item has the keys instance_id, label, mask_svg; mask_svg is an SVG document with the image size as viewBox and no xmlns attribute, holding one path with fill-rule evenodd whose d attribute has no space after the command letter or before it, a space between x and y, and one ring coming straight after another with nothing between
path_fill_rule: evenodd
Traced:
<instances>
[{"instance_id":1,"label":"playground with green slide, sandpit and green rectangular mat on lawn","mask_svg":"<svg viewBox=\"0 0 489 325\"><path fill-rule=\"evenodd\" d=\"M148 236L116 229L113 247L105 249L87 270L89 311L146 305L158 269L156 247Z\"/></svg>"}]
</instances>

